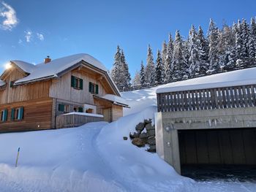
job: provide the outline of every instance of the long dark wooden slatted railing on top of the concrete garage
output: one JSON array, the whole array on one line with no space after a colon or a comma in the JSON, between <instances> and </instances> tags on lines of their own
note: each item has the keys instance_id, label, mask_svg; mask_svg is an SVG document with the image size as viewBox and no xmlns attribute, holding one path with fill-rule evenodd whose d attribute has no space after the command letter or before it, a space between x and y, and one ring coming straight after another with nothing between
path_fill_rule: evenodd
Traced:
<instances>
[{"instance_id":1,"label":"long dark wooden slatted railing on top of the concrete garage","mask_svg":"<svg viewBox=\"0 0 256 192\"><path fill-rule=\"evenodd\" d=\"M158 112L256 106L256 85L157 94Z\"/></svg>"}]
</instances>

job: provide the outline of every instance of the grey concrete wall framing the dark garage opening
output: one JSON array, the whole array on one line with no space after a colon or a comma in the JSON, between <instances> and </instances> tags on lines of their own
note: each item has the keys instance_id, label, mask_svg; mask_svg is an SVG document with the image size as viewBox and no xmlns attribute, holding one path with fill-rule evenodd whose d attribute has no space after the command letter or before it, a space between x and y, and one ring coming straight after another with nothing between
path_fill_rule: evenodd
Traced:
<instances>
[{"instance_id":1,"label":"grey concrete wall framing the dark garage opening","mask_svg":"<svg viewBox=\"0 0 256 192\"><path fill-rule=\"evenodd\" d=\"M181 173L178 130L256 127L256 107L157 112L157 153Z\"/></svg>"}]
</instances>

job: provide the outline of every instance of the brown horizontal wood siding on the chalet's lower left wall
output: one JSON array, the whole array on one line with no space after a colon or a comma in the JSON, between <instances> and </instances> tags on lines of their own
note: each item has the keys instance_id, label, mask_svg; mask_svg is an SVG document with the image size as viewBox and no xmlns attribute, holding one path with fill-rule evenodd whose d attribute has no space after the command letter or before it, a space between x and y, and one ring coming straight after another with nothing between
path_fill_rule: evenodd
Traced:
<instances>
[{"instance_id":1,"label":"brown horizontal wood siding on the chalet's lower left wall","mask_svg":"<svg viewBox=\"0 0 256 192\"><path fill-rule=\"evenodd\" d=\"M8 110L7 122L0 121L0 132L29 131L52 128L53 99L37 99L12 104L1 104L1 110ZM11 109L24 107L23 120L11 120Z\"/></svg>"}]
</instances>

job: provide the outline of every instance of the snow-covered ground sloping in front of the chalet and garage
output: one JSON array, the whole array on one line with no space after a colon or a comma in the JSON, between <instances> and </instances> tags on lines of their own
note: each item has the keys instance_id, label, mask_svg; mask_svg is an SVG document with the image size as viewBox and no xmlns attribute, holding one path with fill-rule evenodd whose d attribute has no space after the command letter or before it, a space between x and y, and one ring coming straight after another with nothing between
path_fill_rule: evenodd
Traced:
<instances>
[{"instance_id":1,"label":"snow-covered ground sloping in front of the chalet and garage","mask_svg":"<svg viewBox=\"0 0 256 192\"><path fill-rule=\"evenodd\" d=\"M256 191L255 183L181 177L157 154L125 141L136 124L153 118L155 91L122 93L132 108L114 123L0 134L0 191Z\"/></svg>"}]
</instances>

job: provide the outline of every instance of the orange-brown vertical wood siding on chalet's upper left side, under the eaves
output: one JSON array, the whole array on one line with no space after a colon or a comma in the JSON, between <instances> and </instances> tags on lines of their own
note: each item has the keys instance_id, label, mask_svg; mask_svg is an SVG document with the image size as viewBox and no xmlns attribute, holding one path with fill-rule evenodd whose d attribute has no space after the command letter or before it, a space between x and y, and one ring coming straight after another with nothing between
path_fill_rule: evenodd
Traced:
<instances>
[{"instance_id":1,"label":"orange-brown vertical wood siding on chalet's upper left side, under the eaves","mask_svg":"<svg viewBox=\"0 0 256 192\"><path fill-rule=\"evenodd\" d=\"M18 101L42 99L49 96L50 80L19 85L10 88L10 82L25 77L18 69L12 69L4 79L7 87L0 91L0 104L10 104Z\"/></svg>"}]
</instances>

